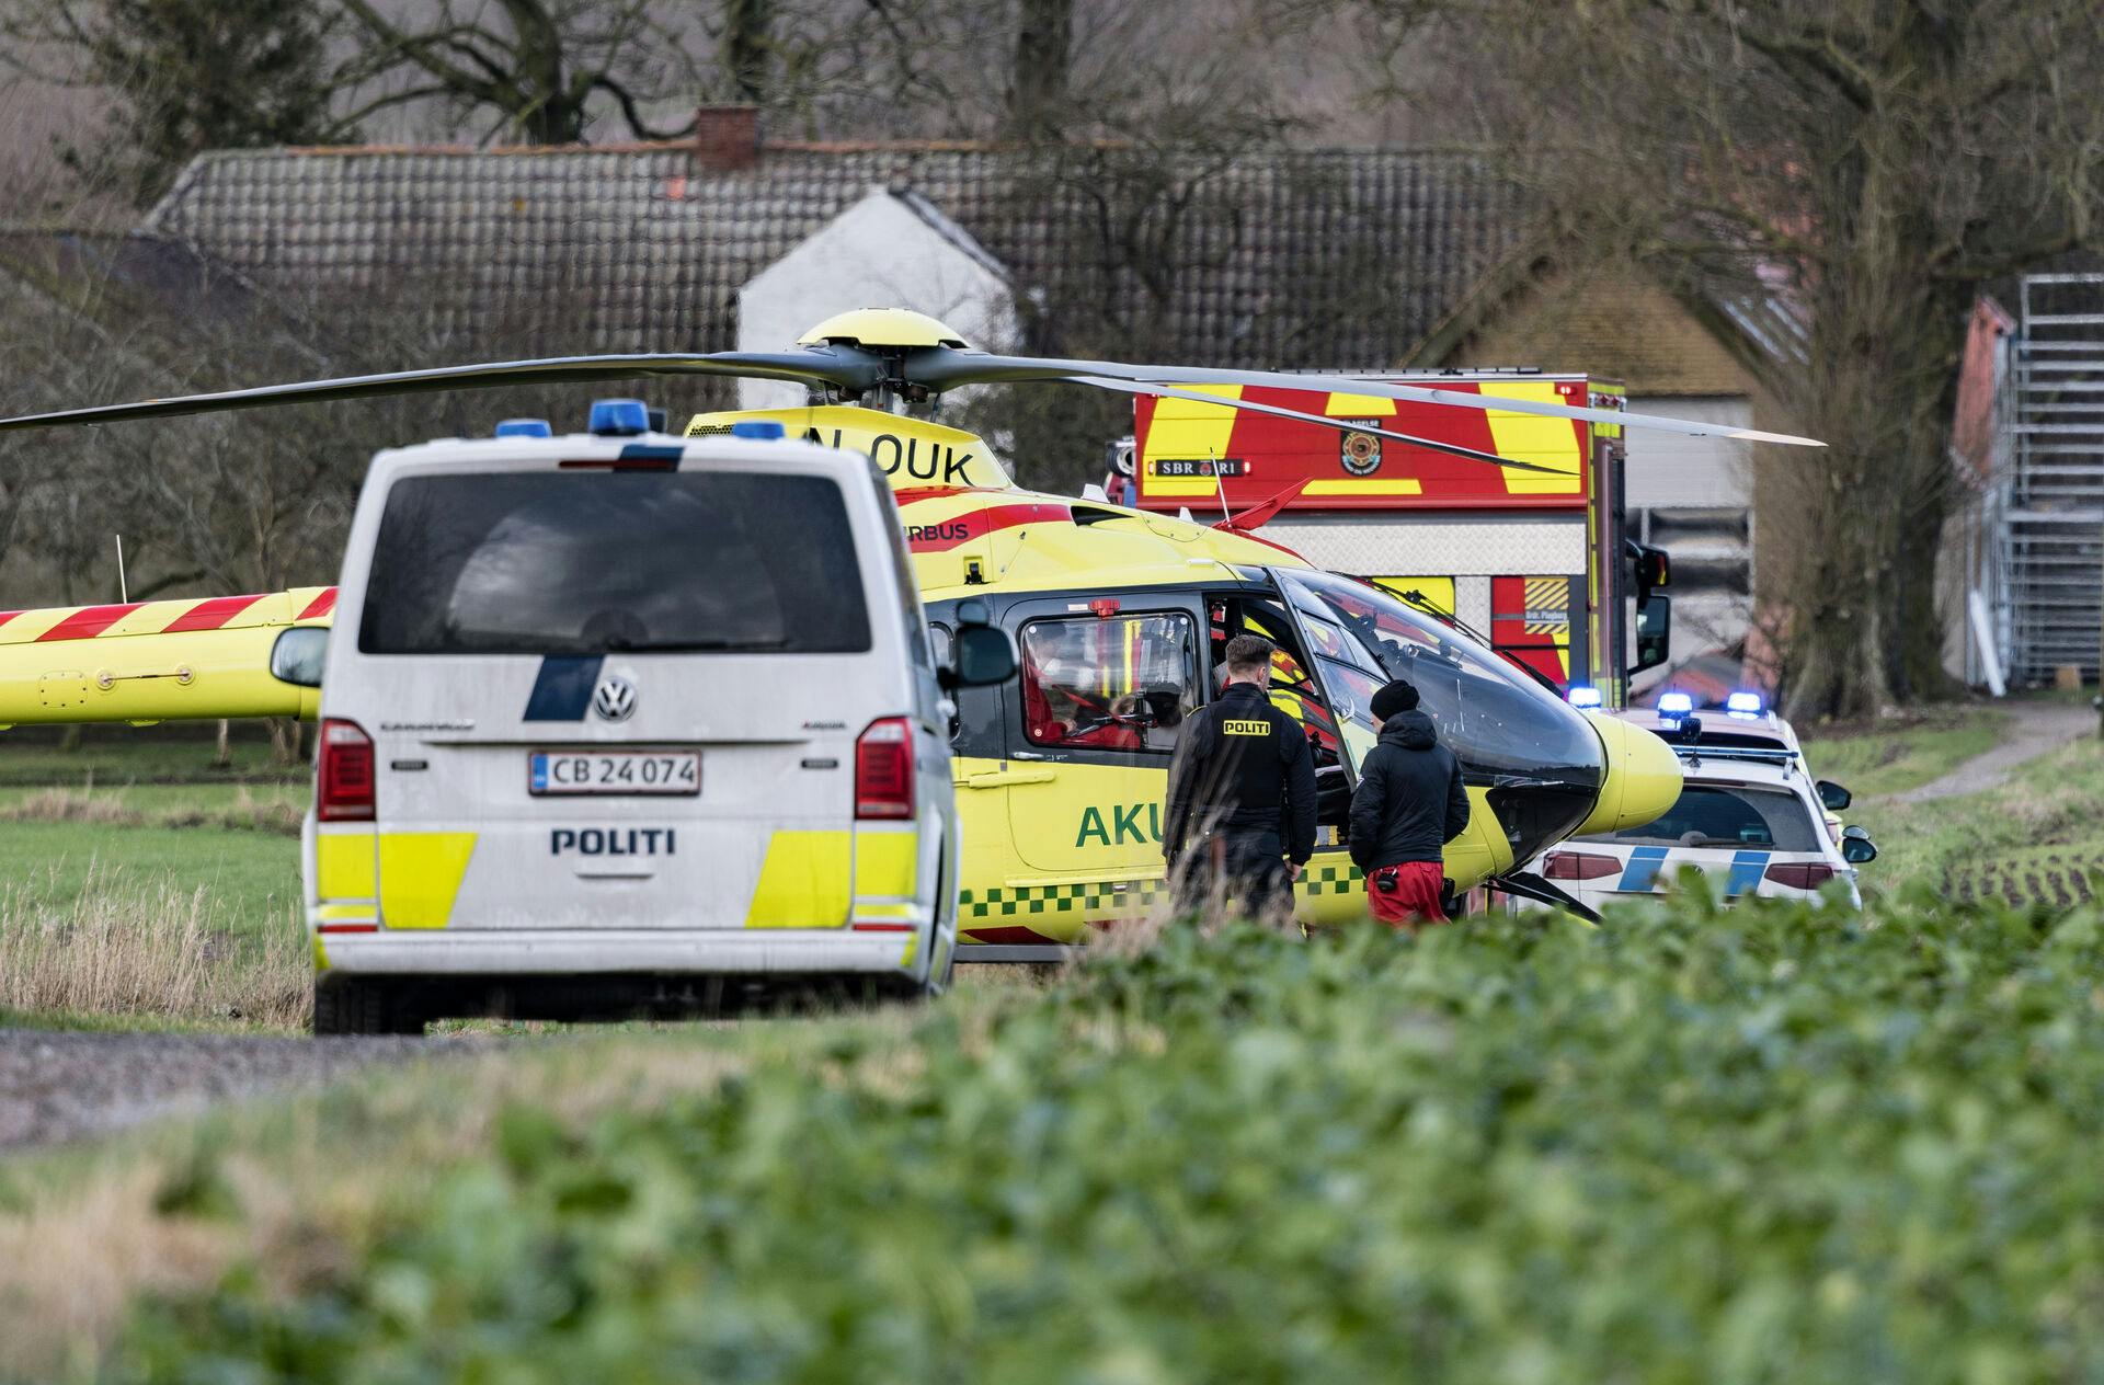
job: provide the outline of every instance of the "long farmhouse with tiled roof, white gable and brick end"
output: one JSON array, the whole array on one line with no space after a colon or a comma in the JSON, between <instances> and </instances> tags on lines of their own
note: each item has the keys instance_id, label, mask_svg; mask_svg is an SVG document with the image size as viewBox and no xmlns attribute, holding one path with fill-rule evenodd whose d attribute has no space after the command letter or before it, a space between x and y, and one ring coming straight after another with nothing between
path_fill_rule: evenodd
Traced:
<instances>
[{"instance_id":1,"label":"long farmhouse with tiled roof, white gable and brick end","mask_svg":"<svg viewBox=\"0 0 2104 1385\"><path fill-rule=\"evenodd\" d=\"M534 347L547 354L781 347L882 301L989 347L1536 364L1620 375L1635 408L1755 413L1753 333L1633 278L1544 280L1525 198L1469 156L785 143L736 109L701 128L562 149L217 152L143 232L257 284L414 305L436 326L417 339L454 358L522 301L564 305ZM732 402L722 381L682 389L682 406ZM1742 448L1635 434L1628 455L1639 530L1685 556L1690 631L1729 638L1751 589Z\"/></svg>"}]
</instances>

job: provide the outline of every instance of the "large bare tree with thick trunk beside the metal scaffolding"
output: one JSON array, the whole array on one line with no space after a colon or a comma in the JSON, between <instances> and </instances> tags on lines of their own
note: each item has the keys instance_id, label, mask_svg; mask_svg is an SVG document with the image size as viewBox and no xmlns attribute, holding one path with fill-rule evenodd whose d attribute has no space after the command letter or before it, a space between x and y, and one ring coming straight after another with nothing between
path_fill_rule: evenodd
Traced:
<instances>
[{"instance_id":1,"label":"large bare tree with thick trunk beside the metal scaffolding","mask_svg":"<svg viewBox=\"0 0 2104 1385\"><path fill-rule=\"evenodd\" d=\"M1544 253L1679 288L1746 343L1782 417L1830 444L1759 461L1793 705L1875 714L1934 692L1965 314L1988 280L2096 244L2096 6L1376 6L1445 55L1448 84L1416 95L1464 112L1471 143L1536 196Z\"/></svg>"}]
</instances>

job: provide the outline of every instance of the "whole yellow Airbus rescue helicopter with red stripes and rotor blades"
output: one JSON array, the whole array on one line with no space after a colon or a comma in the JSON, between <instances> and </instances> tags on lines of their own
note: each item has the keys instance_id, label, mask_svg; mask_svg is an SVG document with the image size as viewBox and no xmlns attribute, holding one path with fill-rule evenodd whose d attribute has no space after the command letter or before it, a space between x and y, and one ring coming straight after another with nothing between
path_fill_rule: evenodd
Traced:
<instances>
[{"instance_id":1,"label":"whole yellow Airbus rescue helicopter with red stripes and rotor blades","mask_svg":"<svg viewBox=\"0 0 2104 1385\"><path fill-rule=\"evenodd\" d=\"M1315 747L1319 844L1296 899L1307 924L1365 911L1365 886L1342 827L1357 760L1374 743L1368 705L1389 678L1418 686L1462 764L1473 817L1445 859L1460 890L1490 882L1561 903L1555 886L1517 867L1572 834L1652 821L1679 794L1679 764L1660 739L1582 714L1471 634L1265 541L1256 530L1275 505L1206 526L1029 493L985 438L892 413L962 385L1079 383L1258 410L1528 469L1525 461L1363 419L1239 398L1243 385L1307 387L1304 377L1286 373L997 356L970 349L934 318L865 309L821 322L787 352L442 366L27 415L0 419L0 431L644 375L806 385L808 406L696 415L686 434L768 419L791 436L867 455L892 484L936 653L947 653L940 646L955 629L957 604L968 600L1014 636L1020 678L966 688L955 699L953 779L966 825L959 926L970 943L1069 945L1151 909L1164 890L1159 804L1178 726L1214 697L1222 648L1241 631L1277 646L1273 701L1304 724ZM1351 389L1376 400L1818 446L1755 429L1378 379L1353 381ZM299 686L274 659L282 657L284 629L326 625L330 615L332 589L322 587L0 613L0 724L311 718L313 688Z\"/></svg>"}]
</instances>

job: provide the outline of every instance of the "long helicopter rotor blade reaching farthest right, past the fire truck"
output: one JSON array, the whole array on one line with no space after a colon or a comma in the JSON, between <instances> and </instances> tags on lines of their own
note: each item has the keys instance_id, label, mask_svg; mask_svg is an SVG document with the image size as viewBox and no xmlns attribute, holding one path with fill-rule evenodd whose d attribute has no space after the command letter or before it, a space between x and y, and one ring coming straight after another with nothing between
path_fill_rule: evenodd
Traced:
<instances>
[{"instance_id":1,"label":"long helicopter rotor blade reaching farthest right, past the fire truck","mask_svg":"<svg viewBox=\"0 0 2104 1385\"><path fill-rule=\"evenodd\" d=\"M1650 427L1690 438L1736 438L1740 442L1778 442L1784 446L1826 446L1818 438L1797 438L1793 434L1765 434L1755 427L1727 427L1721 423L1696 423L1692 419L1666 419L1662 415L1622 413L1620 408L1582 408L1576 404L1540 404L1536 400L1511 400L1496 394L1469 394L1462 389L1439 389L1433 385L1395 385L1382 379L1357 375L1292 375L1288 370L1208 370L1199 366L1142 366L1115 360L1058 360L1035 356L993 356L989 352L955 352L930 347L913 352L905 362L907 383L928 389L955 389L959 385L1025 385L1031 381L1069 381L1075 377L1119 379L1128 383L1159 385L1269 385L1273 389L1344 389L1349 394L1372 394L1387 400L1410 400L1416 404L1450 404L1454 408L1479 408L1496 413L1525 413L1544 419L1584 419L1586 423L1618 423L1622 427ZM1208 396L1210 398L1210 396ZM1227 402L1227 400L1220 400Z\"/></svg>"}]
</instances>

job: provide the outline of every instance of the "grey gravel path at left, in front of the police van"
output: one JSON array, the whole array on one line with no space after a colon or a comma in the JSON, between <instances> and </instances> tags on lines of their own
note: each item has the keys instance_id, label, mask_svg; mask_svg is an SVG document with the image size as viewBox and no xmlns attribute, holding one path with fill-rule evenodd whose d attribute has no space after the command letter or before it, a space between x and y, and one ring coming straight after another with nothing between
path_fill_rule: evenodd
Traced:
<instances>
[{"instance_id":1,"label":"grey gravel path at left, in front of the police van","mask_svg":"<svg viewBox=\"0 0 2104 1385\"><path fill-rule=\"evenodd\" d=\"M0 1153L101 1135L366 1063L454 1048L417 1038L74 1033L0 1027Z\"/></svg>"}]
</instances>

